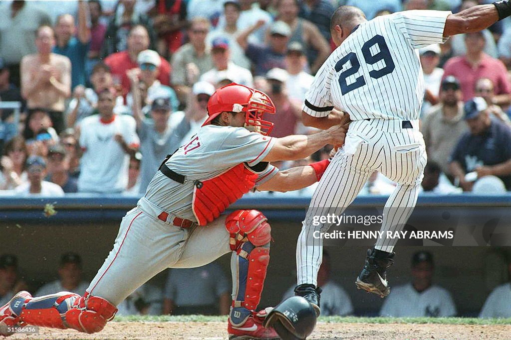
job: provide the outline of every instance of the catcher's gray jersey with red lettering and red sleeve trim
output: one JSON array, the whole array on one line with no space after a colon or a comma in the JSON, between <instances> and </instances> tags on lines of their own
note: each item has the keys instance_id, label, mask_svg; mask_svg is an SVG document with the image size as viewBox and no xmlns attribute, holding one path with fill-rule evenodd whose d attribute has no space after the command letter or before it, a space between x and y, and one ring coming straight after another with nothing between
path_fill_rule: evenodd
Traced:
<instances>
[{"instance_id":1,"label":"catcher's gray jersey with red lettering and red sleeve trim","mask_svg":"<svg viewBox=\"0 0 511 340\"><path fill-rule=\"evenodd\" d=\"M192 212L194 181L216 177L243 162L249 167L257 165L270 152L274 142L274 138L249 132L244 127L203 126L166 162L170 169L186 177L184 184L158 171L149 182L145 199L163 211L195 222ZM277 172L277 168L268 164L258 172L256 186Z\"/></svg>"}]
</instances>

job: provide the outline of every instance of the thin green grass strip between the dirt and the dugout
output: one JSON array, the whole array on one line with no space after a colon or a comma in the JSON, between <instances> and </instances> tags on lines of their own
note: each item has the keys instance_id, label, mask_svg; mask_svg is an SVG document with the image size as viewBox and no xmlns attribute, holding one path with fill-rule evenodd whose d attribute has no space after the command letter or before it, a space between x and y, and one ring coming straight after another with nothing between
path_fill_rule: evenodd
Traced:
<instances>
[{"instance_id":1,"label":"thin green grass strip between the dirt and the dugout","mask_svg":"<svg viewBox=\"0 0 511 340\"><path fill-rule=\"evenodd\" d=\"M116 317L117 322L226 322L226 316L179 315L179 316L129 316ZM477 318L364 318L364 317L319 317L326 323L368 324L445 324L445 325L511 325L511 319Z\"/></svg>"}]
</instances>

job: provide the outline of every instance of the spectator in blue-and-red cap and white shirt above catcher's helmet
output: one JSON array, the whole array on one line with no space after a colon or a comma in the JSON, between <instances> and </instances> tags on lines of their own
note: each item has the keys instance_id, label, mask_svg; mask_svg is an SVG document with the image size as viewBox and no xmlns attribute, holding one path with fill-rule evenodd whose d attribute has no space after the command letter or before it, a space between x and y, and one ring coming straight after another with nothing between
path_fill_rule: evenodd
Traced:
<instances>
[{"instance_id":1,"label":"spectator in blue-and-red cap and white shirt above catcher's helmet","mask_svg":"<svg viewBox=\"0 0 511 340\"><path fill-rule=\"evenodd\" d=\"M202 74L200 81L215 85L218 82L219 73L225 72L234 83L252 87L253 79L250 70L236 65L230 60L229 40L227 38L218 37L213 40L211 57L215 67Z\"/></svg>"}]
</instances>

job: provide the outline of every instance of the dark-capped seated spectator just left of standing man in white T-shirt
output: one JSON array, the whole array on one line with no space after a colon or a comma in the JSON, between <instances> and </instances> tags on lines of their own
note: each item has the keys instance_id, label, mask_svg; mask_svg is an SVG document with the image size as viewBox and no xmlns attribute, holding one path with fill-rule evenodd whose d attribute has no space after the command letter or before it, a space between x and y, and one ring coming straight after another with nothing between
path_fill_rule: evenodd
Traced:
<instances>
[{"instance_id":1,"label":"dark-capped seated spectator just left of standing man in white T-shirt","mask_svg":"<svg viewBox=\"0 0 511 340\"><path fill-rule=\"evenodd\" d=\"M51 146L48 149L48 176L44 180L58 184L65 193L78 192L78 180L69 176L68 169L65 148L61 144Z\"/></svg>"}]
</instances>

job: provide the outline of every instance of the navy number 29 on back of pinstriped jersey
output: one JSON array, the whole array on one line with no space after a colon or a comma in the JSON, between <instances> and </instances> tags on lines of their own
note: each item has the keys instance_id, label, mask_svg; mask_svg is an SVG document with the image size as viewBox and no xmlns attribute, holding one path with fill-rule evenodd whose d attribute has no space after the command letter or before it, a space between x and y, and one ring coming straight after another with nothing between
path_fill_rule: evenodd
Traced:
<instances>
[{"instance_id":1,"label":"navy number 29 on back of pinstriped jersey","mask_svg":"<svg viewBox=\"0 0 511 340\"><path fill-rule=\"evenodd\" d=\"M380 51L377 54L372 55L369 48L375 45L378 45ZM373 38L369 39L362 45L362 55L364 56L365 62L369 65L374 65L380 60L383 60L385 63L385 67L369 72L371 78L381 78L386 74L392 73L394 68L396 68L394 61L392 60L392 56L390 55L390 51L388 50L387 43L385 42L385 38L383 38L381 35L375 35ZM341 72L341 74L339 74L339 85L341 86L341 93L343 95L365 85L365 79L363 75L357 77L355 82L350 85L348 85L346 82L346 78L357 73L360 68L360 62L358 61L357 55L355 53L351 52L339 60L337 64L335 64L335 70L339 72L347 62L350 62L351 67L347 68Z\"/></svg>"}]
</instances>

